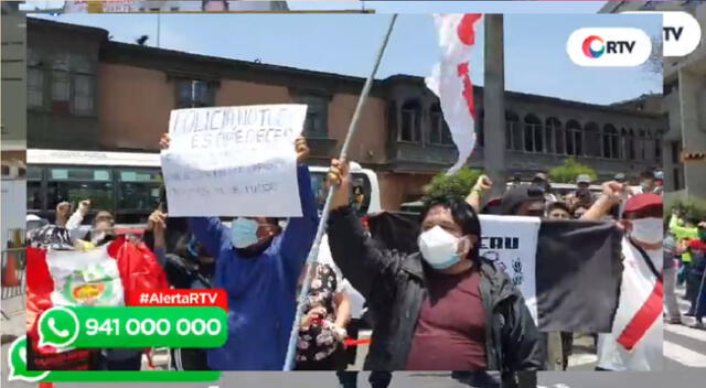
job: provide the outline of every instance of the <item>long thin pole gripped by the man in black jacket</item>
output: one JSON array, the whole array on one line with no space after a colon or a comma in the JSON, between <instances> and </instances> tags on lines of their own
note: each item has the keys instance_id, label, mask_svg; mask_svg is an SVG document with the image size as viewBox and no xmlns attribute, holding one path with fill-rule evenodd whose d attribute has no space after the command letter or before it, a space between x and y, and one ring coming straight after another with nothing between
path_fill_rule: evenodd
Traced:
<instances>
[{"instance_id":1,"label":"long thin pole gripped by the man in black jacket","mask_svg":"<svg viewBox=\"0 0 706 388\"><path fill-rule=\"evenodd\" d=\"M361 111L363 110L363 106L367 100L367 96L370 95L371 88L373 86L373 79L375 78L375 74L377 73L377 68L379 67L379 63L383 60L383 54L385 53L385 47L387 46L387 42L389 41L389 35L393 32L393 28L395 26L395 21L397 20L397 14L395 13L393 18L389 20L389 25L387 26L387 33L383 39L383 43L377 51L377 58L375 60L375 65L373 66L373 71L371 75L365 80L365 85L363 86L363 91L361 91L361 98L357 100L357 106L355 107L355 112L353 114L353 118L351 119L351 123L349 125L349 131L345 136L345 141L343 142L343 147L341 148L341 155L339 159L346 159L349 144L351 143L351 139L355 134L357 130L357 122L361 117ZM295 323L291 326L291 334L289 336L289 345L287 346L287 356L285 358L285 370L292 370L295 367L295 356L297 355L297 341L299 338L299 325L301 323L301 316L304 311L303 308L307 301L307 294L309 294L309 283L311 282L311 271L309 270L312 265L315 265L319 257L319 245L321 244L321 238L323 238L323 234L325 233L327 223L329 222L329 213L331 209L331 202L333 201L333 194L336 191L336 186L330 186L329 193L327 195L327 202L323 205L323 211L321 213L321 219L319 222L319 228L317 229L317 236L311 245L311 250L309 251L309 256L307 257L307 261L304 262L304 268L307 269L303 284L301 287L301 291L299 293L299 303L297 305L297 313L295 314Z\"/></svg>"}]
</instances>

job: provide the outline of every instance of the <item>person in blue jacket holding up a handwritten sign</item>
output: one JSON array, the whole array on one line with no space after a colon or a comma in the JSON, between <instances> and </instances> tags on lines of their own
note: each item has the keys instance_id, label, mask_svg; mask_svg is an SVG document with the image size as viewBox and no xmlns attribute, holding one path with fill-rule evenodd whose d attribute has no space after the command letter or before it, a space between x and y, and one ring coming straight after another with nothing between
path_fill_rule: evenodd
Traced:
<instances>
[{"instance_id":1,"label":"person in blue jacket holding up a handwritten sign","mask_svg":"<svg viewBox=\"0 0 706 388\"><path fill-rule=\"evenodd\" d=\"M169 147L169 136L160 142ZM309 154L296 141L302 216L287 227L277 218L237 217L231 227L217 217L189 218L196 239L216 259L213 287L228 297L228 338L208 351L213 370L281 370L297 310L297 283L319 225Z\"/></svg>"}]
</instances>

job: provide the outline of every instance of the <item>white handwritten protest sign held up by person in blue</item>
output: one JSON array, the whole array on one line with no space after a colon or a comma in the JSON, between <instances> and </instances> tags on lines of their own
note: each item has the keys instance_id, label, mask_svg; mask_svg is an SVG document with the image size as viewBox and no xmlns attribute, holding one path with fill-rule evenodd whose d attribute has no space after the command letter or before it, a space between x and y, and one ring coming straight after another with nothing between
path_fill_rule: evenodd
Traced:
<instances>
[{"instance_id":1,"label":"white handwritten protest sign held up by person in blue","mask_svg":"<svg viewBox=\"0 0 706 388\"><path fill-rule=\"evenodd\" d=\"M169 215L301 216L295 140L306 105L173 110L162 151Z\"/></svg>"}]
</instances>

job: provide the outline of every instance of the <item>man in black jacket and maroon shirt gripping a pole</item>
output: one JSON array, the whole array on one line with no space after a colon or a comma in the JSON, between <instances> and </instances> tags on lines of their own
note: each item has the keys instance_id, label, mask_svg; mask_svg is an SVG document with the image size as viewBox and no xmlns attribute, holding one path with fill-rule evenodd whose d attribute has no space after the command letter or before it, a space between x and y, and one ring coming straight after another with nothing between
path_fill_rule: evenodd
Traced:
<instances>
[{"instance_id":1,"label":"man in black jacket and maroon shirt gripping a pole","mask_svg":"<svg viewBox=\"0 0 706 388\"><path fill-rule=\"evenodd\" d=\"M480 257L480 220L468 204L424 209L420 252L379 250L347 206L347 164L334 160L330 180L340 184L329 219L333 259L376 316L365 369L544 369L524 299Z\"/></svg>"}]
</instances>

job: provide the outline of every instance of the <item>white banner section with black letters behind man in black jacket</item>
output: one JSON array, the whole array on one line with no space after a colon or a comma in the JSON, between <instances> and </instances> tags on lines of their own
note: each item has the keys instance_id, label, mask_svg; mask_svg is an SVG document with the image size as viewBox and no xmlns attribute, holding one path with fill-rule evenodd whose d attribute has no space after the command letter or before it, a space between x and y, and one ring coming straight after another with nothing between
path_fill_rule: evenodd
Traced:
<instances>
[{"instance_id":1,"label":"white banner section with black letters behind man in black jacket","mask_svg":"<svg viewBox=\"0 0 706 388\"><path fill-rule=\"evenodd\" d=\"M536 252L538 217L482 215L481 255L495 261L525 298L525 304L537 323Z\"/></svg>"}]
</instances>

